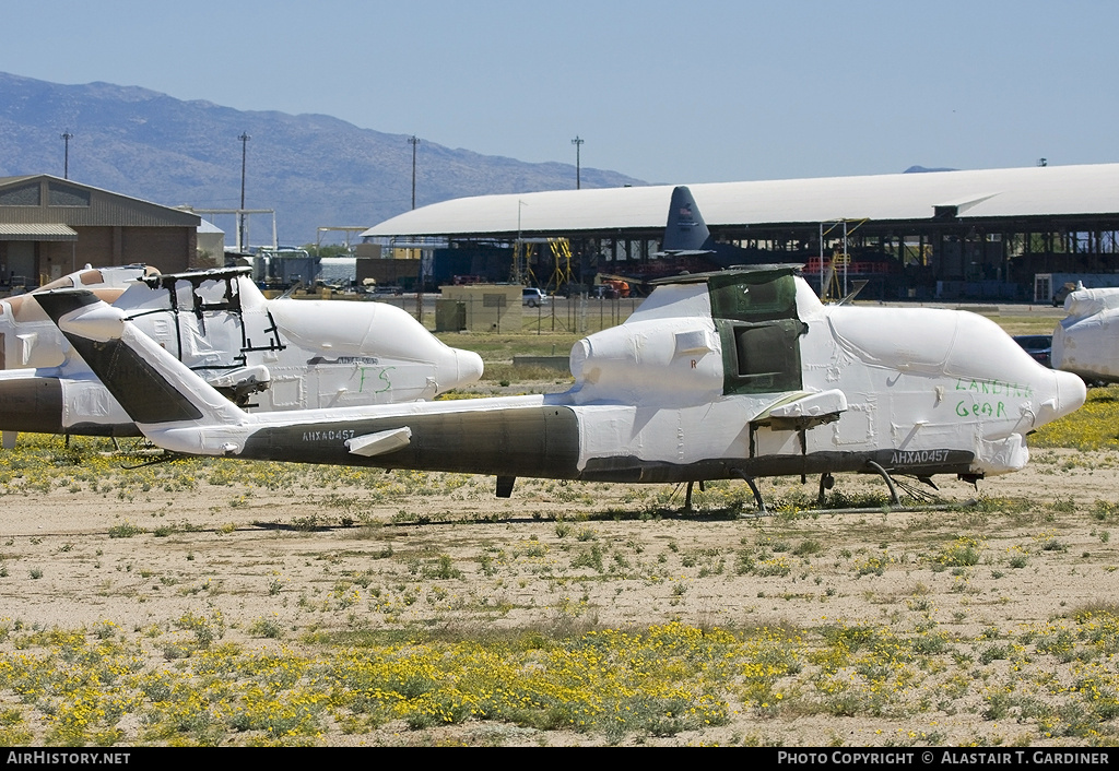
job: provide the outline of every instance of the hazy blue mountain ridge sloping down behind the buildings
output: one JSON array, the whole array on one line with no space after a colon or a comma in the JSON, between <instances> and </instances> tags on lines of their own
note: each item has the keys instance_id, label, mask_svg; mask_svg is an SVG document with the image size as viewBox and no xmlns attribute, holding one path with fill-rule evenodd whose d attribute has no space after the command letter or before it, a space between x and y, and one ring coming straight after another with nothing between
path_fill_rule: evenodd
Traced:
<instances>
[{"instance_id":1,"label":"hazy blue mountain ridge sloping down behind the buildings","mask_svg":"<svg viewBox=\"0 0 1119 771\"><path fill-rule=\"evenodd\" d=\"M412 151L385 134L330 117L243 112L109 83L59 85L0 73L0 176L63 176L144 200L198 208L241 203L241 142L247 133L245 207L275 209L282 243L313 242L320 226L373 226L412 206ZM525 163L423 141L416 205L496 192L574 187L575 167ZM645 182L582 169L584 187ZM233 218L218 219L233 243ZM250 219L250 241L271 223Z\"/></svg>"}]
</instances>

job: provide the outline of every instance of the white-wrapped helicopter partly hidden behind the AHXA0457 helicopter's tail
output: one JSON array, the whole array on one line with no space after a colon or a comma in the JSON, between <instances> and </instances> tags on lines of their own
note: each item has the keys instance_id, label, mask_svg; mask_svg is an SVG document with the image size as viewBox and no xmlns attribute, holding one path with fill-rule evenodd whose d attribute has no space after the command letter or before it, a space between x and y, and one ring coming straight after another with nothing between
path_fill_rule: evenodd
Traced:
<instances>
[{"instance_id":1,"label":"white-wrapped helicopter partly hidden behind the AHXA0457 helicopter's tail","mask_svg":"<svg viewBox=\"0 0 1119 771\"><path fill-rule=\"evenodd\" d=\"M267 300L232 267L159 274L86 270L76 286L113 303L137 331L241 407L261 412L429 399L473 383L481 358L443 345L380 302ZM94 288L94 289L90 289ZM0 301L0 430L139 436L38 303Z\"/></svg>"}]
</instances>

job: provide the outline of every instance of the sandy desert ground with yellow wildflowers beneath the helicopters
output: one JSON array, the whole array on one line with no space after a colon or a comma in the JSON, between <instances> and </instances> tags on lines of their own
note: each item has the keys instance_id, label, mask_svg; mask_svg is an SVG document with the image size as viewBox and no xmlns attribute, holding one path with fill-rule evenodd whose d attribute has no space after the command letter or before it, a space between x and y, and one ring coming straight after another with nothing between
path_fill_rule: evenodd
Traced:
<instances>
[{"instance_id":1,"label":"sandy desert ground with yellow wildflowers beneath the helicopters","mask_svg":"<svg viewBox=\"0 0 1119 771\"><path fill-rule=\"evenodd\" d=\"M1119 735L1112 450L1034 450L944 481L940 509L886 511L847 476L833 502L861 513L812 511L815 480L768 480L761 517L741 482L686 514L671 486L502 500L485 478L21 446L0 474L0 744Z\"/></svg>"}]
</instances>

